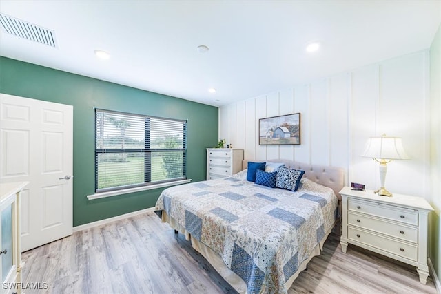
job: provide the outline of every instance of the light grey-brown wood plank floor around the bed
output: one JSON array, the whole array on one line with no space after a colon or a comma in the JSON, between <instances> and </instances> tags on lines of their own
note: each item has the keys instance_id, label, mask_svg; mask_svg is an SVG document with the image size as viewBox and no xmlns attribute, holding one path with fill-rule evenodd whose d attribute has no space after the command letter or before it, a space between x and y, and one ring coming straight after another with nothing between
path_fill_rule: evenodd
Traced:
<instances>
[{"instance_id":1,"label":"light grey-brown wood plank floor around the bed","mask_svg":"<svg viewBox=\"0 0 441 294\"><path fill-rule=\"evenodd\" d=\"M236 293L154 213L94 227L22 254L30 293ZM436 293L413 266L356 246L342 253L331 234L322 255L300 273L289 293Z\"/></svg>"}]
</instances>

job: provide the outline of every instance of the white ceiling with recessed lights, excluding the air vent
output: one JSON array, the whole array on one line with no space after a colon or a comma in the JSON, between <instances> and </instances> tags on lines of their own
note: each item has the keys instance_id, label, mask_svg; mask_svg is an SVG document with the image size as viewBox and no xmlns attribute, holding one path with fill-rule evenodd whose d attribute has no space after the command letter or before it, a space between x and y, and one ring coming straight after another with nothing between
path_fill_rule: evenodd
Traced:
<instances>
[{"instance_id":1,"label":"white ceiling with recessed lights, excluding the air vent","mask_svg":"<svg viewBox=\"0 0 441 294\"><path fill-rule=\"evenodd\" d=\"M1 56L220 106L427 49L441 1L1 0L0 12L57 45L1 30Z\"/></svg>"}]
</instances>

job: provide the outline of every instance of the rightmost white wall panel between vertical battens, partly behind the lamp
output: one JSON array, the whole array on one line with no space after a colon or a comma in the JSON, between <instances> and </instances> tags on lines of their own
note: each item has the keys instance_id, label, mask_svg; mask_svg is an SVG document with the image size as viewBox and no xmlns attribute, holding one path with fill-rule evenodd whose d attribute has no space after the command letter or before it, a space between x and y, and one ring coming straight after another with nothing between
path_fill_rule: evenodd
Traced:
<instances>
[{"instance_id":1,"label":"rightmost white wall panel between vertical battens, partly behind the lamp","mask_svg":"<svg viewBox=\"0 0 441 294\"><path fill-rule=\"evenodd\" d=\"M429 100L425 97L424 80L428 77L423 61L424 53L411 54L384 62L380 67L380 132L402 137L410 156L409 160L394 160L387 165L386 187L409 179L418 183L418 190L414 192L418 196L428 188L424 187L424 178L429 173L429 166L424 168L424 162L429 160L426 121Z\"/></svg>"}]
</instances>

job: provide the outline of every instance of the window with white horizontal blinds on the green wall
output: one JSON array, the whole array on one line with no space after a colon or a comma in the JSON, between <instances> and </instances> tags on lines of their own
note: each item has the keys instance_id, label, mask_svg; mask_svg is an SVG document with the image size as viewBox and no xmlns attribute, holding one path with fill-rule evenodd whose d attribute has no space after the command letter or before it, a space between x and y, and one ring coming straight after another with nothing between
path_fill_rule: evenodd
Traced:
<instances>
[{"instance_id":1,"label":"window with white horizontal blinds on the green wall","mask_svg":"<svg viewBox=\"0 0 441 294\"><path fill-rule=\"evenodd\" d=\"M186 179L187 122L95 110L95 191Z\"/></svg>"}]
</instances>

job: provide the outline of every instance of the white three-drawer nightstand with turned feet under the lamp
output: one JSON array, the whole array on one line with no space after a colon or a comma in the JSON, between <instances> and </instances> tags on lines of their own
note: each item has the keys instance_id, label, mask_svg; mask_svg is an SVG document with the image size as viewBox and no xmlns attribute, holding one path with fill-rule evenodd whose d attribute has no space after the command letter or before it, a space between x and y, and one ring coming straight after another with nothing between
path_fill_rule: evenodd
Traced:
<instances>
[{"instance_id":1,"label":"white three-drawer nightstand with turned feet under the lamp","mask_svg":"<svg viewBox=\"0 0 441 294\"><path fill-rule=\"evenodd\" d=\"M417 267L420 282L426 284L427 218L433 210L424 198L393 194L378 196L372 190L353 191L344 187L342 236L346 253L354 244Z\"/></svg>"}]
</instances>

